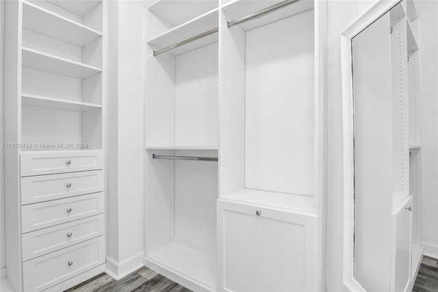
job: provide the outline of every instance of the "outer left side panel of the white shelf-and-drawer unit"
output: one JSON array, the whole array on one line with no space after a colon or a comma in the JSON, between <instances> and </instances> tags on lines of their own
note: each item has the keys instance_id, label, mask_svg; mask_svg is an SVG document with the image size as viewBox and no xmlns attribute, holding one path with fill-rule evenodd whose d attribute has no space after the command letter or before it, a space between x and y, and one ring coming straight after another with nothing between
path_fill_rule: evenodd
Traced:
<instances>
[{"instance_id":1,"label":"outer left side panel of the white shelf-and-drawer unit","mask_svg":"<svg viewBox=\"0 0 438 292\"><path fill-rule=\"evenodd\" d=\"M21 32L22 1L5 1L5 143L21 142ZM21 276L21 202L18 157L21 150L5 148L5 249L8 280L16 291L23 289Z\"/></svg>"}]
</instances>

